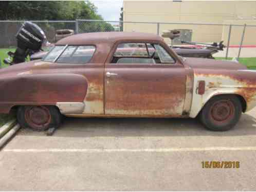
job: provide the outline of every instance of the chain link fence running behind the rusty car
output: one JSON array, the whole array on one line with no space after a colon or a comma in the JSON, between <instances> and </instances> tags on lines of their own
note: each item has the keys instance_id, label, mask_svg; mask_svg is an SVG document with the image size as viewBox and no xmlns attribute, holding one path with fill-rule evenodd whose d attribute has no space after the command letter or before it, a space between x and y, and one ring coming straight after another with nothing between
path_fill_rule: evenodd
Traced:
<instances>
[{"instance_id":1,"label":"chain link fence running behind the rusty car","mask_svg":"<svg viewBox=\"0 0 256 192\"><path fill-rule=\"evenodd\" d=\"M256 25L244 25L245 21L232 24L198 24L198 23L157 23L157 22L119 22L103 20L60 20L60 21L32 21L39 25L45 32L49 42L56 42L56 30L71 29L75 33L107 32L107 31L130 31L146 32L161 35L164 30L178 29L182 31L179 39L173 42L180 44L181 40L197 41L204 43L220 42L224 40L227 48L224 50L226 58L233 57L229 48L236 47L235 57L246 55L242 50L244 45L256 47ZM241 23L242 22L242 23ZM16 46L15 35L24 21L0 21L0 48ZM168 44L170 39L165 38ZM233 49L232 49L233 50ZM223 54L222 54L223 55Z\"/></svg>"}]
</instances>

